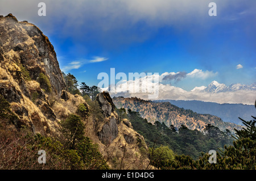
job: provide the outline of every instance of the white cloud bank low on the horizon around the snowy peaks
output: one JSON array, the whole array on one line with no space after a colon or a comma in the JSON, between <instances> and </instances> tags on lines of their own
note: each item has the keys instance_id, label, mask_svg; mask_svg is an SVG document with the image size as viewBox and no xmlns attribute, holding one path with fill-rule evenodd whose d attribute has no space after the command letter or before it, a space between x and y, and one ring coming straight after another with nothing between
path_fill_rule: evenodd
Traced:
<instances>
[{"instance_id":1,"label":"white cloud bank low on the horizon around the snowy peaks","mask_svg":"<svg viewBox=\"0 0 256 181\"><path fill-rule=\"evenodd\" d=\"M199 77L199 78L206 78L212 75L216 75L217 73L213 73L212 71L202 71L199 69L195 69L189 73L188 76L190 77ZM163 81L163 78L167 75L178 75L177 73L171 72L165 72L162 75L158 74L152 74L152 75L146 75L144 77L139 78L139 86L137 86L137 90L139 91L129 91L129 87L132 85L136 85L135 80L132 81L122 81L118 86L115 87L115 92L110 92L111 96L125 96L125 97L131 97L136 96L137 98L141 99L148 99L148 95L151 95L152 92L145 91L147 90L147 87L155 87L154 83L152 83L152 79L156 77L156 79L159 79L159 84L157 87L159 87L159 96L156 99L172 99L172 100L202 100L206 102L216 102L216 103L242 103L242 104L254 104L255 100L255 91L253 90L235 90L235 91L224 91L224 92L207 92L207 91L201 91L204 90L206 87L195 87L192 91L186 91L184 89L181 89L180 87L166 85L161 82ZM144 84L143 84L144 83ZM217 83L214 81L214 83ZM144 85L144 86L143 86ZM146 87L146 88L145 88ZM105 90L108 90L109 87L107 87ZM144 91L143 91L144 90ZM155 89L152 89L155 91Z\"/></svg>"}]
</instances>

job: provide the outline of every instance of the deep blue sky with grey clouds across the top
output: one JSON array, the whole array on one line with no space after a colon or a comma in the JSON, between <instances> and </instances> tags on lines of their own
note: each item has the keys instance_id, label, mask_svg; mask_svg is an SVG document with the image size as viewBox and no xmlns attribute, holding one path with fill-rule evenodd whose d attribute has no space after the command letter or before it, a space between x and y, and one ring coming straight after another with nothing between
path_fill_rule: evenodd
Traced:
<instances>
[{"instance_id":1,"label":"deep blue sky with grey clouds across the top","mask_svg":"<svg viewBox=\"0 0 256 181\"><path fill-rule=\"evenodd\" d=\"M198 73L167 83L191 90L212 81L256 78L256 1L87 0L0 2L0 14L38 26L55 47L61 70L89 86L101 72ZM216 2L217 16L209 16ZM239 66L237 66L239 65ZM196 71L194 71L195 73Z\"/></svg>"}]
</instances>

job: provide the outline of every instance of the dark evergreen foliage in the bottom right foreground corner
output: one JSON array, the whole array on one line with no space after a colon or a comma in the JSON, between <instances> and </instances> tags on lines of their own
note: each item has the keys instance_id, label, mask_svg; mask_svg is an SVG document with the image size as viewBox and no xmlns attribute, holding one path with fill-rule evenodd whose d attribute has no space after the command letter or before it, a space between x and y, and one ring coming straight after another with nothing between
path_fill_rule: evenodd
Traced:
<instances>
[{"instance_id":1,"label":"dark evergreen foliage in the bottom right foreground corner","mask_svg":"<svg viewBox=\"0 0 256 181\"><path fill-rule=\"evenodd\" d=\"M255 119L255 117L253 117ZM217 163L209 163L210 155L202 153L198 160L193 160L188 155L175 155L174 161L162 161L160 169L218 169L218 170L255 170L256 140L255 123L256 121L242 120L246 129L236 130L237 138L233 145L224 146L224 151L217 152Z\"/></svg>"}]
</instances>

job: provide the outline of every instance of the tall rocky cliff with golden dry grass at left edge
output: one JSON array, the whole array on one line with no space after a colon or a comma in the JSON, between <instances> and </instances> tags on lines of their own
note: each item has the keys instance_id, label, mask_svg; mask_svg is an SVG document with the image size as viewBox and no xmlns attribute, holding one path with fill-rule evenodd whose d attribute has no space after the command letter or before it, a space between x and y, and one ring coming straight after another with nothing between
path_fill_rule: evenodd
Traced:
<instances>
[{"instance_id":1,"label":"tall rocky cliff with golden dry grass at left edge","mask_svg":"<svg viewBox=\"0 0 256 181\"><path fill-rule=\"evenodd\" d=\"M40 85L39 75L44 78L41 83L48 83L51 92ZM0 16L0 94L19 117L15 121L19 124L15 125L26 125L42 134L59 128L51 107L54 101L49 96L60 98L65 87L48 37L34 24L18 22L12 14Z\"/></svg>"}]
</instances>

